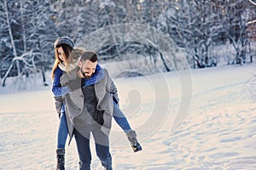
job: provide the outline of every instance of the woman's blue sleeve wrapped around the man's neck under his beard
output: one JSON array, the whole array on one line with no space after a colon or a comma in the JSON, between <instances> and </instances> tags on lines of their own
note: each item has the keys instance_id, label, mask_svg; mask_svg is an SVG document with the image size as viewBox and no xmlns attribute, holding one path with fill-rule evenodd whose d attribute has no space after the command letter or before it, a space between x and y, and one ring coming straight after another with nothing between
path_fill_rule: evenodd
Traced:
<instances>
[{"instance_id":1,"label":"woman's blue sleeve wrapped around the man's neck under his beard","mask_svg":"<svg viewBox=\"0 0 256 170\"><path fill-rule=\"evenodd\" d=\"M92 76L90 78L83 78L82 81L83 83L83 88L93 85L96 82L100 82L102 80L102 78L105 76L105 72L102 69L101 65L96 65L96 70L95 72L92 74Z\"/></svg>"}]
</instances>

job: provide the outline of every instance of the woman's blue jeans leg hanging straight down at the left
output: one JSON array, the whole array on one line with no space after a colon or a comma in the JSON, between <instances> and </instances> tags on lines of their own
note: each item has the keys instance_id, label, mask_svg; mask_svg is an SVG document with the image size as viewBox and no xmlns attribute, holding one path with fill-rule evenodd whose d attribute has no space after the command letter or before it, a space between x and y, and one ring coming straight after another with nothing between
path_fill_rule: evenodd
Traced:
<instances>
[{"instance_id":1,"label":"woman's blue jeans leg hanging straight down at the left","mask_svg":"<svg viewBox=\"0 0 256 170\"><path fill-rule=\"evenodd\" d=\"M63 106L62 106L63 107ZM67 141L67 119L64 111L64 107L61 110L60 124L58 129L57 148L65 148Z\"/></svg>"}]
</instances>

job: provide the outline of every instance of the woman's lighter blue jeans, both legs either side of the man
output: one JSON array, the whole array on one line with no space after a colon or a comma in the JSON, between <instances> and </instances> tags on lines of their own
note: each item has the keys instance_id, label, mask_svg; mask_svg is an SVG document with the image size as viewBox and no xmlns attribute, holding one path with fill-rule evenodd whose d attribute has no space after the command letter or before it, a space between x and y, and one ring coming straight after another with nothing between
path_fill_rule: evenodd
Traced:
<instances>
[{"instance_id":1,"label":"woman's lighter blue jeans, both legs either side of the man","mask_svg":"<svg viewBox=\"0 0 256 170\"><path fill-rule=\"evenodd\" d=\"M131 130L131 126L127 121L124 113L119 109L119 106L113 102L113 118L115 122L118 123L119 127L125 131L125 133ZM60 124L58 130L58 141L57 147L58 148L65 148L66 141L67 141L67 119L65 116L64 106L62 105L61 109L61 117L60 117Z\"/></svg>"}]
</instances>

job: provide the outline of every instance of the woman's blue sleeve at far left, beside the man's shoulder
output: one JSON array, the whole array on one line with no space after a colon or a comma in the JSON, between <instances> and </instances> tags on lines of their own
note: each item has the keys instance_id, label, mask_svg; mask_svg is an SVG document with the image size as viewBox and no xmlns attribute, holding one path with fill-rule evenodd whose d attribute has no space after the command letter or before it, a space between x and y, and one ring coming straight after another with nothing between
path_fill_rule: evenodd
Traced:
<instances>
[{"instance_id":1,"label":"woman's blue sleeve at far left, beside the man's shoulder","mask_svg":"<svg viewBox=\"0 0 256 170\"><path fill-rule=\"evenodd\" d=\"M63 96L69 93L69 89L67 86L61 87L61 76L63 74L63 71L59 69L58 67L55 70L55 78L52 84L52 93L54 94L55 97Z\"/></svg>"}]
</instances>

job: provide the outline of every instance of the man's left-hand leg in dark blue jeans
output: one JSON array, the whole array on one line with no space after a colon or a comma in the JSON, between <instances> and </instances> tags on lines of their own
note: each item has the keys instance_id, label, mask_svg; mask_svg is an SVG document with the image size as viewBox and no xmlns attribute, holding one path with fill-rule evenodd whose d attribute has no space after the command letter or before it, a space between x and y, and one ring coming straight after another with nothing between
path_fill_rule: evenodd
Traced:
<instances>
[{"instance_id":1,"label":"man's left-hand leg in dark blue jeans","mask_svg":"<svg viewBox=\"0 0 256 170\"><path fill-rule=\"evenodd\" d=\"M90 132L85 137L77 129L74 129L74 137L79 152L79 170L90 170Z\"/></svg>"}]
</instances>

